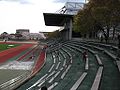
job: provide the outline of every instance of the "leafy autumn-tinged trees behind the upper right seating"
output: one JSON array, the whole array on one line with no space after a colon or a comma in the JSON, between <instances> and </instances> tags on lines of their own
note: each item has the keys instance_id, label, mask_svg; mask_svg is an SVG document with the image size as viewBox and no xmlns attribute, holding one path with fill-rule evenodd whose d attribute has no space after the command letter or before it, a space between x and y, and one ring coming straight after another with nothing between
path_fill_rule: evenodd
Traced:
<instances>
[{"instance_id":1,"label":"leafy autumn-tinged trees behind the upper right seating","mask_svg":"<svg viewBox=\"0 0 120 90\"><path fill-rule=\"evenodd\" d=\"M120 0L89 0L82 10L74 16L73 30L82 35L101 31L106 42L110 29L115 38L116 28L120 25Z\"/></svg>"}]
</instances>

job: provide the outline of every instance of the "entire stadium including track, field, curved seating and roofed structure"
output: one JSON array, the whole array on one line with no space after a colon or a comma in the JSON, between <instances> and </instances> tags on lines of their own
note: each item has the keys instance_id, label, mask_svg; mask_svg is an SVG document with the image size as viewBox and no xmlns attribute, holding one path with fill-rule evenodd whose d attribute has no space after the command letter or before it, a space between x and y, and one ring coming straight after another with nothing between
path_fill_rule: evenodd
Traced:
<instances>
[{"instance_id":1,"label":"entire stadium including track, field, curved seating and roofed structure","mask_svg":"<svg viewBox=\"0 0 120 90\"><path fill-rule=\"evenodd\" d=\"M61 27L57 38L1 41L0 90L120 90L120 39L78 37L73 18L83 7L43 13L45 25Z\"/></svg>"}]
</instances>

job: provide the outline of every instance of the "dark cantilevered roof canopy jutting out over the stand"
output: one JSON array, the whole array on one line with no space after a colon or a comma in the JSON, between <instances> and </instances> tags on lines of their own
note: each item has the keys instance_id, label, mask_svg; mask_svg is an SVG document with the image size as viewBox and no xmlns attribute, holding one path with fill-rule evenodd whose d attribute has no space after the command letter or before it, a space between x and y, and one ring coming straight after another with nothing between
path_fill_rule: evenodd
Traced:
<instances>
[{"instance_id":1,"label":"dark cantilevered roof canopy jutting out over the stand","mask_svg":"<svg viewBox=\"0 0 120 90\"><path fill-rule=\"evenodd\" d=\"M43 13L45 25L47 26L64 26L68 19L72 19L73 15L57 14L57 13Z\"/></svg>"}]
</instances>

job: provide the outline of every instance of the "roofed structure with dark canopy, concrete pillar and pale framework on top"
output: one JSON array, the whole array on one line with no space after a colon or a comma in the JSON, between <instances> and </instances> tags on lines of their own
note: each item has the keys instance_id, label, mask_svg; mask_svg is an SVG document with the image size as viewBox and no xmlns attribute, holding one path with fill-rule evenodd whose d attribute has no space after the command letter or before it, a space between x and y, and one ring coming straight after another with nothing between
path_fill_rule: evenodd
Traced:
<instances>
[{"instance_id":1,"label":"roofed structure with dark canopy, concrete pillar and pale framework on top","mask_svg":"<svg viewBox=\"0 0 120 90\"><path fill-rule=\"evenodd\" d=\"M61 37L65 40L72 39L72 24L73 16L82 9L84 3L80 2L66 2L60 10L56 13L43 13L45 25L61 27Z\"/></svg>"}]
</instances>

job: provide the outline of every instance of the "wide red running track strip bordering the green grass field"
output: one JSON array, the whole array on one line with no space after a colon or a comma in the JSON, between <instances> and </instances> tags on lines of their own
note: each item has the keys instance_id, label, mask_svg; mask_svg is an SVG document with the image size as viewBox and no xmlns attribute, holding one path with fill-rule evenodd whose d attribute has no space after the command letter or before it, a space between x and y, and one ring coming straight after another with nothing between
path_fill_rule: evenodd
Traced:
<instances>
[{"instance_id":1,"label":"wide red running track strip bordering the green grass field","mask_svg":"<svg viewBox=\"0 0 120 90\"><path fill-rule=\"evenodd\" d=\"M33 44L22 44L21 46L10 48L8 50L0 52L0 63L8 61L8 59L13 58L14 56L20 54L21 52L32 46Z\"/></svg>"}]
</instances>

